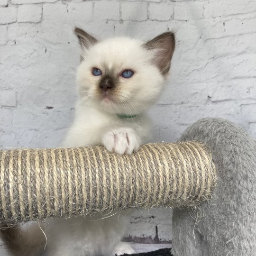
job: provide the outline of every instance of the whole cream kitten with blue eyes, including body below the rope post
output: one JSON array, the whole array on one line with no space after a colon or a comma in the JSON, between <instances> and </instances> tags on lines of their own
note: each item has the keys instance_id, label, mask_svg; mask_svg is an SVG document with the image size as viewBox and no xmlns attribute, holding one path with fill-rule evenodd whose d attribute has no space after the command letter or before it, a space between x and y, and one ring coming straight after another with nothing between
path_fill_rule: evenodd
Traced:
<instances>
[{"instance_id":1,"label":"whole cream kitten with blue eyes, including body below the rope post","mask_svg":"<svg viewBox=\"0 0 256 256\"><path fill-rule=\"evenodd\" d=\"M132 154L150 136L145 112L163 89L174 52L174 34L166 32L142 42L127 37L98 41L80 28L74 32L82 47L77 71L79 101L73 126L62 146L103 145L118 154ZM34 252L17 243L17 239L23 239L19 229L19 235L17 230L6 229L2 237L17 256L23 251L24 256L133 253L129 244L120 242L128 218L119 213L105 217L46 220L47 246L41 252L45 245L43 234L38 239L44 243L34 246Z\"/></svg>"}]
</instances>

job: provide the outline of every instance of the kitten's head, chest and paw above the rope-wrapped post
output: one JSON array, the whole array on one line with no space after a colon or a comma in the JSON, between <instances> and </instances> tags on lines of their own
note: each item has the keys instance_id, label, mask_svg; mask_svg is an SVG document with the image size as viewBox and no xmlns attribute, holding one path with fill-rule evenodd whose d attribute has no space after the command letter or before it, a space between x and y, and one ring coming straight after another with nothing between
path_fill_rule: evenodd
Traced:
<instances>
[{"instance_id":1,"label":"kitten's head, chest and paw above the rope-wrapped post","mask_svg":"<svg viewBox=\"0 0 256 256\"><path fill-rule=\"evenodd\" d=\"M77 72L80 100L64 146L104 145L131 154L150 135L145 111L162 91L174 51L174 35L144 43L127 37L98 42L83 30Z\"/></svg>"}]
</instances>

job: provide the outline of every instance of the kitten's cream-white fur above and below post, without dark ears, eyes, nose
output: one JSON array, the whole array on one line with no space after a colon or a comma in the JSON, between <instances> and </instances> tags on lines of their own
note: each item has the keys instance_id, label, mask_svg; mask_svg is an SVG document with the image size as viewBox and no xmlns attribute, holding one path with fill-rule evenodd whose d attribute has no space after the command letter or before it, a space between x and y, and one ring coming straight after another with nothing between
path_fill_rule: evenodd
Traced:
<instances>
[{"instance_id":1,"label":"kitten's cream-white fur above and below post, without dark ears, eyes, nose","mask_svg":"<svg viewBox=\"0 0 256 256\"><path fill-rule=\"evenodd\" d=\"M149 138L149 121L145 111L155 102L164 82L158 68L151 64L153 53L141 47L142 42L130 38L112 38L91 46L84 52L78 68L80 99L75 120L62 146L104 145L109 151L131 154ZM100 76L91 69L114 70L119 89L111 99L102 99ZM134 71L129 78L119 76L125 69ZM137 115L120 119L116 114ZM51 219L46 222L47 255L113 256L133 253L120 240L128 218L99 215L72 219ZM102 219L104 218L104 219ZM95 220L99 219L99 220Z\"/></svg>"}]
</instances>

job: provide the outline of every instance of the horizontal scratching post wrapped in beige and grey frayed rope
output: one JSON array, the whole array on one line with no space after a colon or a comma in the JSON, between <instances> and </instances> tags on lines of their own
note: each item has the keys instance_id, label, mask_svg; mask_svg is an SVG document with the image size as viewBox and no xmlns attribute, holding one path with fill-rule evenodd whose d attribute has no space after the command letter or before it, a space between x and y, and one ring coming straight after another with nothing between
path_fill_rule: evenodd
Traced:
<instances>
[{"instance_id":1,"label":"horizontal scratching post wrapped in beige and grey frayed rope","mask_svg":"<svg viewBox=\"0 0 256 256\"><path fill-rule=\"evenodd\" d=\"M0 222L195 206L216 180L199 142L146 144L132 155L103 146L1 150Z\"/></svg>"}]
</instances>

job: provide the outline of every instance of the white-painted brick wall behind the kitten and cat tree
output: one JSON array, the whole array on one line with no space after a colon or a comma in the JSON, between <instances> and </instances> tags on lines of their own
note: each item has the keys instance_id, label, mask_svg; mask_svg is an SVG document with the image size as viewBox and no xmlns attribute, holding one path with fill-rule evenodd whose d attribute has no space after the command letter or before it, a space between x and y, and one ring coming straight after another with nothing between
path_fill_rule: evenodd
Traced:
<instances>
[{"instance_id":1,"label":"white-painted brick wall behind the kitten and cat tree","mask_svg":"<svg viewBox=\"0 0 256 256\"><path fill-rule=\"evenodd\" d=\"M256 137L255 0L0 0L0 147L63 139L76 99L74 26L99 38L175 31L170 80L151 110L155 141L175 141L209 116ZM169 210L140 216L130 235L153 237L157 225L159 237L171 239Z\"/></svg>"}]
</instances>

